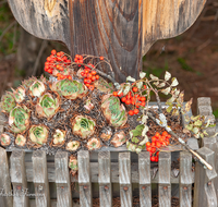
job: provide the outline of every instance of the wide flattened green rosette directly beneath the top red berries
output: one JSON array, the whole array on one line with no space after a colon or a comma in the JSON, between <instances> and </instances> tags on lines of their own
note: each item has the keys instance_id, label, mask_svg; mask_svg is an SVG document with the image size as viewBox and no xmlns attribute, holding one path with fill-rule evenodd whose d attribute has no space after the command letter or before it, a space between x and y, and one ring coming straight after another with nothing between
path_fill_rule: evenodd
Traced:
<instances>
[{"instance_id":1,"label":"wide flattened green rosette directly beneath the top red berries","mask_svg":"<svg viewBox=\"0 0 218 207\"><path fill-rule=\"evenodd\" d=\"M51 89L59 93L64 98L71 100L82 98L87 93L87 88L83 83L71 80L61 80L58 82L53 82Z\"/></svg>"}]
</instances>

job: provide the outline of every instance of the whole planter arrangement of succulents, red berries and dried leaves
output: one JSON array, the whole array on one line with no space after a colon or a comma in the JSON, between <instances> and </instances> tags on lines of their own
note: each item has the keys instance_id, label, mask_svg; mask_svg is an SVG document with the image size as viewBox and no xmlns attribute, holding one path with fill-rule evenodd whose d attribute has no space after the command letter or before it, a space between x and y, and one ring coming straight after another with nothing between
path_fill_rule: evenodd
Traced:
<instances>
[{"instance_id":1,"label":"whole planter arrangement of succulents, red berries and dried leaves","mask_svg":"<svg viewBox=\"0 0 218 207\"><path fill-rule=\"evenodd\" d=\"M104 65L110 73L104 72ZM125 145L131 151L150 151L158 161L160 150L174 150L178 144L195 136L204 137L210 123L205 117L189 117L192 99L183 102L175 77L165 78L140 73L140 80L128 77L116 82L109 61L104 57L78 56L74 60L64 52L51 51L45 71L46 80L31 77L20 87L7 92L1 109L8 122L1 134L5 148L43 149L48 154L66 150L69 167L77 169L80 149L96 150L102 146ZM111 74L111 75L109 75ZM149 105L152 94L157 106ZM160 94L168 96L162 107ZM186 126L181 124L183 114Z\"/></svg>"}]
</instances>

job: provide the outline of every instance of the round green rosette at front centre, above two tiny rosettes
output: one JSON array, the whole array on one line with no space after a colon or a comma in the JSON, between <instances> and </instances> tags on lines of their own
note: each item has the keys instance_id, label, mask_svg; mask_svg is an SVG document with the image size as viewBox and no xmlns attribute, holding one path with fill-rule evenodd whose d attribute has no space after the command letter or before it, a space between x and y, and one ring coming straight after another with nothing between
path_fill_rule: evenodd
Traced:
<instances>
[{"instance_id":1,"label":"round green rosette at front centre, above two tiny rosettes","mask_svg":"<svg viewBox=\"0 0 218 207\"><path fill-rule=\"evenodd\" d=\"M82 138L87 138L95 133L95 121L89 117L76 115L71 120L72 131Z\"/></svg>"}]
</instances>

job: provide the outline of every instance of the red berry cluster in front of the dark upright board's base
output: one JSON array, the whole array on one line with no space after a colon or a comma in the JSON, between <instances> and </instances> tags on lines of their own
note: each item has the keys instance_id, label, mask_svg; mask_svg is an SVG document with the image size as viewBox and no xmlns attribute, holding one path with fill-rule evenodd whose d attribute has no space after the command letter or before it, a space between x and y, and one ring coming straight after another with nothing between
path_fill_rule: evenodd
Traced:
<instances>
[{"instance_id":1,"label":"red berry cluster in front of the dark upright board's base","mask_svg":"<svg viewBox=\"0 0 218 207\"><path fill-rule=\"evenodd\" d=\"M95 69L94 64L88 63L87 65ZM90 68L85 66L84 70L81 72L81 75L84 77L83 82L87 86L88 89L94 90L94 82L96 80L99 80L99 75L97 75L97 72L95 70L90 70Z\"/></svg>"}]
</instances>

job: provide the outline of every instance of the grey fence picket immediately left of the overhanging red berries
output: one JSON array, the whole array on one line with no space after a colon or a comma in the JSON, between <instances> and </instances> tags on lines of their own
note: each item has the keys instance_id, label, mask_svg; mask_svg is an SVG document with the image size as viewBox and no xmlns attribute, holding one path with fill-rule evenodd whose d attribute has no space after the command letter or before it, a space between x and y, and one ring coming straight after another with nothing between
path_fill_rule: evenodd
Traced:
<instances>
[{"instance_id":1,"label":"grey fence picket immediately left of the overhanging red berries","mask_svg":"<svg viewBox=\"0 0 218 207\"><path fill-rule=\"evenodd\" d=\"M138 155L140 173L140 205L152 207L150 188L150 156L149 151L142 151Z\"/></svg>"}]
</instances>

